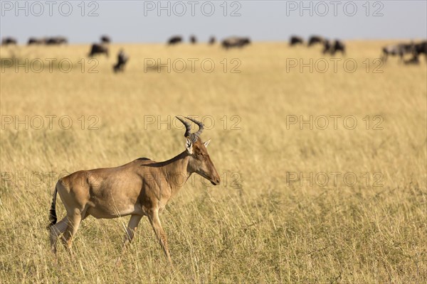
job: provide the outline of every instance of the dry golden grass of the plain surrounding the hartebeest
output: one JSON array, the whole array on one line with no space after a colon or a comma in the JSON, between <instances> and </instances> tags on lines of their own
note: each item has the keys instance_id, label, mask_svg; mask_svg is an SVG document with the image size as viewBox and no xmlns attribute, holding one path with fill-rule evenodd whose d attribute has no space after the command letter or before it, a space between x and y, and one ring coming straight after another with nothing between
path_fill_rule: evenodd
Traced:
<instances>
[{"instance_id":1,"label":"dry golden grass of the plain surrounding the hartebeest","mask_svg":"<svg viewBox=\"0 0 427 284\"><path fill-rule=\"evenodd\" d=\"M98 58L97 74L88 73L88 65L80 71L87 45L1 48L3 59L70 58L73 70L50 73L46 66L41 73L26 73L21 67L16 73L5 67L0 73L0 282L426 282L426 61L404 66L391 58L382 73L373 73L372 60L384 44L349 42L347 58L358 63L353 73L342 64L336 73L332 68L287 72L287 59L308 62L322 55L320 47L285 43L228 51L207 45L112 45L110 58ZM130 62L115 75L111 67L121 47ZM189 66L182 73L144 72L144 58L211 58L216 67L211 73L200 65L194 73ZM224 73L223 58L229 64L241 60L241 73ZM85 219L73 243L75 258L59 247L55 265L45 226L59 173L143 156L172 158L184 150L184 132L166 124L144 127L144 117L178 114L215 119L203 138L212 138L209 153L223 180L207 187L194 178L162 214L175 270L169 271L147 219L122 266L115 266L129 217ZM52 130L46 125L26 130L23 124L16 130L4 125L9 115L68 115L73 129L60 129L56 118ZM88 129L91 115L99 119L97 130ZM240 130L231 129L233 115L241 119ZM358 124L349 130L339 119L336 130L332 125L301 130L287 128L288 115L353 115ZM384 119L382 130L372 129L376 115ZM50 172L57 173L53 180ZM322 172L354 173L357 184L344 184L342 175L337 185L330 180L324 187L287 180L289 173ZM375 173L381 186L373 186ZM57 210L62 217L61 202Z\"/></svg>"}]
</instances>

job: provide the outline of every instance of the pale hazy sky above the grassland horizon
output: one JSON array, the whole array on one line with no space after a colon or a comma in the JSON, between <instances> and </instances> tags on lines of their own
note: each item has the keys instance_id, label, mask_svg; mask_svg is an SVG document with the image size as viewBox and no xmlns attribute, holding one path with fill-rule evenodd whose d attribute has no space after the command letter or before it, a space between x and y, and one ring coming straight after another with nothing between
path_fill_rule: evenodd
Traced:
<instances>
[{"instance_id":1,"label":"pale hazy sky above the grassland horizon","mask_svg":"<svg viewBox=\"0 0 427 284\"><path fill-rule=\"evenodd\" d=\"M64 35L92 43L164 43L246 35L283 41L292 34L342 39L427 38L427 1L0 1L0 36Z\"/></svg>"}]
</instances>

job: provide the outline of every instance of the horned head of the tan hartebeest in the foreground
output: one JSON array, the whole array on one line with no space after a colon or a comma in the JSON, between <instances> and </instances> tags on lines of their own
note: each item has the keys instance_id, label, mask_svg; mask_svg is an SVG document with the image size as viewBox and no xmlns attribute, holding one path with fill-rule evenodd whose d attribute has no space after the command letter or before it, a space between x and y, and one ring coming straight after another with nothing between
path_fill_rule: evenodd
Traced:
<instances>
[{"instance_id":1,"label":"horned head of the tan hartebeest in the foreground","mask_svg":"<svg viewBox=\"0 0 427 284\"><path fill-rule=\"evenodd\" d=\"M176 116L176 119L179 119L186 129L184 136L186 137L186 152L189 155L189 173L197 173L206 178L206 180L209 180L212 185L219 185L221 179L219 178L214 163L212 163L211 157L209 157L208 151L206 150L211 139L202 142L199 137L204 129L203 124L200 121L186 117L186 119L193 121L197 126L199 126L199 130L197 132L191 133L191 126L188 122L184 119L180 119L178 116Z\"/></svg>"}]
</instances>

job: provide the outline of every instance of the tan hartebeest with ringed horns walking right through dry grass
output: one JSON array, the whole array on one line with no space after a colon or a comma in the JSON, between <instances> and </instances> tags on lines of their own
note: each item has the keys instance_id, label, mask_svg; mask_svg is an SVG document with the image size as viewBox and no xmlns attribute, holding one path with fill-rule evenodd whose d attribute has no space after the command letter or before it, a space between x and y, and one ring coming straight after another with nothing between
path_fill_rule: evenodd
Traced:
<instances>
[{"instance_id":1,"label":"tan hartebeest with ringed horns walking right through dry grass","mask_svg":"<svg viewBox=\"0 0 427 284\"><path fill-rule=\"evenodd\" d=\"M51 224L48 225L53 253L56 253L56 241L60 234L63 234L61 239L65 248L71 253L73 236L80 222L89 215L97 219L131 215L123 244L125 249L132 241L139 221L147 216L164 254L169 263L172 263L159 212L176 195L191 173L201 175L213 185L220 183L214 163L206 151L210 140L202 142L199 138L204 125L187 118L199 126L196 133L191 133L190 124L184 119L176 118L186 128L186 150L176 157L160 163L139 158L117 168L81 170L58 180L49 214ZM58 223L57 193L67 212Z\"/></svg>"}]
</instances>

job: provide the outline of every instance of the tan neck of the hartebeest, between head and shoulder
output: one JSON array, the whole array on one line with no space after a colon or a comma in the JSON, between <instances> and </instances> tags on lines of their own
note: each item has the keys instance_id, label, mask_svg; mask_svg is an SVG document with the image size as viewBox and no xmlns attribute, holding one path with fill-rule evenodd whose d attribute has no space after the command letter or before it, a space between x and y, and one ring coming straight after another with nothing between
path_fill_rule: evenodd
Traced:
<instances>
[{"instance_id":1,"label":"tan neck of the hartebeest, between head and shoulder","mask_svg":"<svg viewBox=\"0 0 427 284\"><path fill-rule=\"evenodd\" d=\"M189 154L184 151L170 160L159 163L159 169L172 188L172 195L175 195L192 173L188 167L189 158Z\"/></svg>"}]
</instances>

